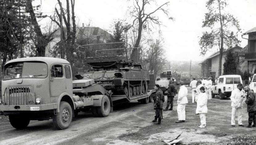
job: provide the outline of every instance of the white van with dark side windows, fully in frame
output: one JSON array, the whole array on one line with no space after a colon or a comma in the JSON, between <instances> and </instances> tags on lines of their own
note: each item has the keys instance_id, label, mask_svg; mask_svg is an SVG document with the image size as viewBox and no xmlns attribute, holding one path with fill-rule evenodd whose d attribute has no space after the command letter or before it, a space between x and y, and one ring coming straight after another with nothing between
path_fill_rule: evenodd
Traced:
<instances>
[{"instance_id":1,"label":"white van with dark side windows, fully in frame","mask_svg":"<svg viewBox=\"0 0 256 145\"><path fill-rule=\"evenodd\" d=\"M237 88L237 84L242 84L240 75L223 75L216 79L212 87L212 97L219 95L220 99L231 96L231 92Z\"/></svg>"}]
</instances>

